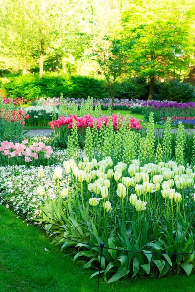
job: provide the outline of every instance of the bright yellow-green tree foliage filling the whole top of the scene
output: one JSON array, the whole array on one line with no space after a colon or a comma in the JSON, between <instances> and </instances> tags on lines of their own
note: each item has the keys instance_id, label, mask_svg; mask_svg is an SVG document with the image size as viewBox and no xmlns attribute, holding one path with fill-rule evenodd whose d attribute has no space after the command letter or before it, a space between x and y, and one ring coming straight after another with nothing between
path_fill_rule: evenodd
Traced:
<instances>
[{"instance_id":1,"label":"bright yellow-green tree foliage filling the whole top of the scene","mask_svg":"<svg viewBox=\"0 0 195 292\"><path fill-rule=\"evenodd\" d=\"M188 0L2 0L0 31L1 70L107 78L109 69L115 79L113 62L125 63L117 79L146 77L149 98L156 79L183 78L195 65Z\"/></svg>"}]
</instances>

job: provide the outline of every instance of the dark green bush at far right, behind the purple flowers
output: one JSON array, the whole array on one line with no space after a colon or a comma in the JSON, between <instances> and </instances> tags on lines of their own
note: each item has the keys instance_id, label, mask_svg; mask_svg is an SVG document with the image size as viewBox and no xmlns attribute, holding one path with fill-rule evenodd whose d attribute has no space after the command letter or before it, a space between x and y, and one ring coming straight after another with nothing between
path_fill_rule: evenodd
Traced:
<instances>
[{"instance_id":1,"label":"dark green bush at far right, behind the purple flowers","mask_svg":"<svg viewBox=\"0 0 195 292\"><path fill-rule=\"evenodd\" d=\"M169 100L178 102L188 102L195 98L194 87L190 83L171 80L166 82L156 82L154 86L153 99Z\"/></svg>"}]
</instances>

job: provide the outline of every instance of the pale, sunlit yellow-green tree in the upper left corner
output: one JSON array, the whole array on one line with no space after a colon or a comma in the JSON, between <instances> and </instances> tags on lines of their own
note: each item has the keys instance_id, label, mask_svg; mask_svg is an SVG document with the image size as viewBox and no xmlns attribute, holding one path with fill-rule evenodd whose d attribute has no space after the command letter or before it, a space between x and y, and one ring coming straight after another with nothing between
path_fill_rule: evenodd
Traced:
<instances>
[{"instance_id":1,"label":"pale, sunlit yellow-green tree in the upper left corner","mask_svg":"<svg viewBox=\"0 0 195 292\"><path fill-rule=\"evenodd\" d=\"M78 52L82 36L89 37L90 16L90 0L7 0L0 13L0 27L7 32L1 54L7 47L6 55L19 58L23 66L39 63L42 77L46 58L58 63L62 55ZM79 54L82 50L79 46Z\"/></svg>"}]
</instances>

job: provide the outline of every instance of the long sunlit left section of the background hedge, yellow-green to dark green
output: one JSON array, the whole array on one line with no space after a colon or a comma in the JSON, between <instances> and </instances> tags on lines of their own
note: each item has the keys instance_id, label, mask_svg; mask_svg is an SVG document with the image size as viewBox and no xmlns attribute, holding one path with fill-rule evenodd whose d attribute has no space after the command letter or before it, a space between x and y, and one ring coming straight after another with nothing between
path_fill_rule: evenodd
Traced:
<instances>
[{"instance_id":1,"label":"long sunlit left section of the background hedge, yellow-green to dark green","mask_svg":"<svg viewBox=\"0 0 195 292\"><path fill-rule=\"evenodd\" d=\"M3 84L8 96L24 97L33 100L40 97L64 96L74 98L108 97L104 81L85 76L52 76L45 74L41 79L38 75L22 75L10 79L9 83Z\"/></svg>"}]
</instances>

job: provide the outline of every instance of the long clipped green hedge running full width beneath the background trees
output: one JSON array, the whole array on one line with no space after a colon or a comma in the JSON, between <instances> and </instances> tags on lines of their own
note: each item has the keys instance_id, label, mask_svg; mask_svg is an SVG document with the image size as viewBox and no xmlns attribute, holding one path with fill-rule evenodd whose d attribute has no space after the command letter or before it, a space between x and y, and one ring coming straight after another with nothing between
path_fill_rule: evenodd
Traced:
<instances>
[{"instance_id":1,"label":"long clipped green hedge running full width beneath the background trees","mask_svg":"<svg viewBox=\"0 0 195 292\"><path fill-rule=\"evenodd\" d=\"M42 79L36 74L22 75L10 78L9 83L2 84L8 96L35 99L38 97L65 97L73 98L108 98L106 83L92 77L45 74ZM149 85L144 78L129 78L117 84L116 98L148 99ZM195 89L189 83L178 80L155 82L153 99L172 101L191 101L195 99Z\"/></svg>"}]
</instances>

